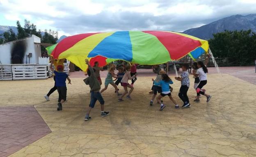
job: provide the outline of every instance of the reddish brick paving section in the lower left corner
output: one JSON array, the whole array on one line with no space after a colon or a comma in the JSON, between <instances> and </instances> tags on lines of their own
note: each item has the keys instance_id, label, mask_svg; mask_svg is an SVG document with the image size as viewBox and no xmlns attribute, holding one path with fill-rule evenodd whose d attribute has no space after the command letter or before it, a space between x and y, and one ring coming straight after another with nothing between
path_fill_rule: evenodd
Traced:
<instances>
[{"instance_id":1,"label":"reddish brick paving section in the lower left corner","mask_svg":"<svg viewBox=\"0 0 256 157\"><path fill-rule=\"evenodd\" d=\"M34 106L0 107L0 157L7 157L50 132Z\"/></svg>"}]
</instances>

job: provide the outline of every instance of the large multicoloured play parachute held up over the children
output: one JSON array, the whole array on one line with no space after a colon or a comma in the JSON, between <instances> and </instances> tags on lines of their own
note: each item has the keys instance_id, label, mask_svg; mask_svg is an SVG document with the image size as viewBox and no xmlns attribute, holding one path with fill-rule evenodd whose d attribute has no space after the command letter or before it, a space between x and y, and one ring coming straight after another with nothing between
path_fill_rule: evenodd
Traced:
<instances>
[{"instance_id":1,"label":"large multicoloured play parachute held up over the children","mask_svg":"<svg viewBox=\"0 0 256 157\"><path fill-rule=\"evenodd\" d=\"M47 48L55 59L66 58L86 71L85 58L100 66L113 60L141 65L162 64L185 55L197 59L208 53L208 41L169 31L117 31L85 33L64 38ZM51 52L52 51L52 52Z\"/></svg>"}]
</instances>

